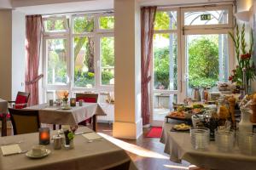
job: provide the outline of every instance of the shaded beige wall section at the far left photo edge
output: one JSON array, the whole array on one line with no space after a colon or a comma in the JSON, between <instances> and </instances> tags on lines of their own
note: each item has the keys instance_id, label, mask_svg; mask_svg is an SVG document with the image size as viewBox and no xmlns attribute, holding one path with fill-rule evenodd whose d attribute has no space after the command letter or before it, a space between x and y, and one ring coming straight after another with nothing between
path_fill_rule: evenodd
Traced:
<instances>
[{"instance_id":1,"label":"shaded beige wall section at the far left photo edge","mask_svg":"<svg viewBox=\"0 0 256 170\"><path fill-rule=\"evenodd\" d=\"M12 11L0 9L0 98L11 99Z\"/></svg>"}]
</instances>

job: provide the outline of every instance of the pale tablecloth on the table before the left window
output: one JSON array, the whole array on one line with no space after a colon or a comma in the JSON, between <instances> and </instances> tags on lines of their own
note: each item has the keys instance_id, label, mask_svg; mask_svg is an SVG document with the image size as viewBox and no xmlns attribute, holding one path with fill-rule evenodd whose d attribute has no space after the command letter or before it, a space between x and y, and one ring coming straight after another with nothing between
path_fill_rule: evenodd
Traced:
<instances>
[{"instance_id":1,"label":"pale tablecloth on the table before the left window","mask_svg":"<svg viewBox=\"0 0 256 170\"><path fill-rule=\"evenodd\" d=\"M50 109L48 110L48 108ZM54 108L55 110L52 110ZM83 106L77 104L77 106L71 107L71 110L61 110L60 107L48 104L34 105L26 109L38 110L40 122L47 124L77 125L94 115L106 115L102 107L96 103L84 103Z\"/></svg>"}]
</instances>

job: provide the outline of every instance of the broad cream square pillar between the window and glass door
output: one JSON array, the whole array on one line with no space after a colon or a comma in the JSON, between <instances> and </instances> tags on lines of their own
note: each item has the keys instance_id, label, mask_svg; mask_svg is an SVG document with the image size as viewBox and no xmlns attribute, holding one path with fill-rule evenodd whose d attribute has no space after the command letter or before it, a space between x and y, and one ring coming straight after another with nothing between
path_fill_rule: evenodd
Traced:
<instances>
[{"instance_id":1,"label":"broad cream square pillar between the window and glass door","mask_svg":"<svg viewBox=\"0 0 256 170\"><path fill-rule=\"evenodd\" d=\"M143 133L140 7L137 0L115 0L114 17L113 136L137 139Z\"/></svg>"}]
</instances>

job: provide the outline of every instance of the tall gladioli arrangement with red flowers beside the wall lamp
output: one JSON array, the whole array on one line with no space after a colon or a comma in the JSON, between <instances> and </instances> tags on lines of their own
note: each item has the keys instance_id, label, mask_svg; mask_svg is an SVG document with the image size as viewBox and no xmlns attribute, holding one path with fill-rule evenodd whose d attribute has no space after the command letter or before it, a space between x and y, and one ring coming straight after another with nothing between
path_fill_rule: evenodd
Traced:
<instances>
[{"instance_id":1,"label":"tall gladioli arrangement with red flowers beside the wall lamp","mask_svg":"<svg viewBox=\"0 0 256 170\"><path fill-rule=\"evenodd\" d=\"M245 40L245 25L241 28L241 33L239 31L239 27L236 26L236 37L232 33L230 33L230 37L232 38L235 48L236 48L236 60L237 65L236 69L234 69L229 77L230 82L236 82L236 85L242 86L243 80L243 70L246 71L246 80L247 83L250 80L255 80L256 78L256 70L255 65L253 63L253 31L251 31L251 42L247 51L247 43Z\"/></svg>"}]
</instances>

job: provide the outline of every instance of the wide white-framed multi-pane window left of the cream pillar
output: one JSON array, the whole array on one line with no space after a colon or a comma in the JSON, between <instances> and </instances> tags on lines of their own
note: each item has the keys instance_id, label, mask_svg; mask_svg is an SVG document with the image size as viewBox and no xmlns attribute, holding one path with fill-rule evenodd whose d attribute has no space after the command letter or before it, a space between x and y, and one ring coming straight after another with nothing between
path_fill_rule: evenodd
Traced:
<instances>
[{"instance_id":1,"label":"wide white-framed multi-pane window left of the cream pillar","mask_svg":"<svg viewBox=\"0 0 256 170\"><path fill-rule=\"evenodd\" d=\"M113 91L113 26L109 13L44 18L45 101L59 89Z\"/></svg>"}]
</instances>

